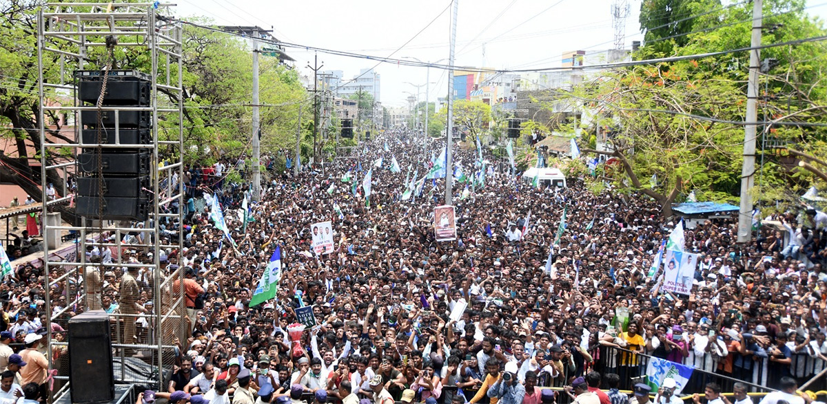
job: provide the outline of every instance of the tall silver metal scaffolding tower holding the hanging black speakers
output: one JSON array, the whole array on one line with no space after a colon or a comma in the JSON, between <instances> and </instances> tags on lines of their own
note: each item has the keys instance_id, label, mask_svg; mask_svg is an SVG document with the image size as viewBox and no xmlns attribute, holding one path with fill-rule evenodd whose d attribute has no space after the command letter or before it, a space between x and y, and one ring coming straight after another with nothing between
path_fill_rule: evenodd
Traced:
<instances>
[{"instance_id":1,"label":"tall silver metal scaffolding tower holding the hanging black speakers","mask_svg":"<svg viewBox=\"0 0 827 404\"><path fill-rule=\"evenodd\" d=\"M77 243L79 249L74 257L65 257L62 262L49 262L44 259L45 282L45 329L52 330L52 322L62 321L62 317L69 314L70 309L79 313L87 310L90 300L103 297L102 291L90 291L87 283L89 270L101 271L118 269L126 272L127 268L139 268L151 273L151 298L152 310L145 314L112 313L110 320L114 323L114 338L112 338L113 358L120 358L120 374L116 374L116 381L122 383L143 383L156 389L165 390L166 370L172 368L168 362L177 356L174 340L185 340L189 334L186 330L187 312L184 307L184 270L182 268L170 270L162 269L160 263L160 252L162 249L175 249L180 257L183 247L183 219L185 211L184 203L184 91L183 91L183 27L180 22L174 22L170 18L169 7L171 3L144 2L144 3L108 3L108 2L60 2L47 3L37 12L37 59L39 68L38 95L40 99L39 131L41 140L41 187L42 187L42 214L44 235L60 231L78 231ZM151 59L149 74L151 78L151 98L148 107L84 107L79 100L78 80L73 78L67 80L66 70L88 70L98 69L103 72L106 69L103 65L93 64L90 54L98 51L106 51L106 37L117 38L117 45L114 50L143 51ZM114 55L114 54L112 54ZM103 60L103 59L101 59ZM103 62L101 62L103 64ZM44 72L47 69L60 68L59 83L46 83ZM131 68L127 68L131 69ZM109 74L108 69L106 73ZM74 74L73 74L74 76ZM68 95L67 95L68 94ZM68 99L71 102L60 102L60 98ZM162 101L162 97L169 101ZM114 144L88 144L84 143L81 131L83 131L80 115L82 111L109 111L114 113L115 122L115 143ZM119 112L146 111L151 112L151 144L147 145L126 145L122 144L120 137ZM74 118L74 142L55 139L50 136L46 125L49 117L46 112L53 112ZM164 121L172 126L160 133L159 121ZM97 122L98 125L101 122ZM66 125L68 126L68 125ZM66 127L65 126L65 127ZM175 127L177 126L177 128ZM99 126L98 126L99 127ZM69 137L69 136L67 136ZM151 150L150 188L143 188L151 192L150 208L148 219L138 223L135 221L117 221L110 226L104 226L99 217L83 216L79 226L61 226L60 221L50 223L47 219L50 213L50 205L46 195L47 183L50 182L47 173L52 170L65 168L67 165L74 165L74 173L81 171L78 167L77 155L84 148L95 148L94 150L112 151L119 148L130 148L140 150ZM100 148L100 149L98 149ZM74 162L69 164L53 164L48 157L55 151L71 150ZM175 178L177 175L177 178ZM68 178L63 178L64 182ZM70 200L66 192L60 200ZM102 203L101 201L98 201ZM177 209L174 203L177 202ZM97 220L93 220L97 219ZM96 223L97 221L97 223ZM174 234L165 233L169 241L162 243L161 224L177 226L177 240ZM143 225L143 226L141 226ZM105 231L104 231L105 230ZM124 242L123 236L129 233L143 235L143 242ZM113 240L109 240L113 238ZM44 256L49 257L52 250L59 245L50 245L49 237L44 237ZM97 247L103 256L103 250L109 249L112 252L112 263L88 262L85 252L87 247ZM112 251L114 249L114 251ZM151 262L146 263L124 263L122 253L125 249L143 249L153 253ZM103 277L102 277L103 278ZM69 282L76 279L74 288ZM65 283L64 292L66 302L63 307L53 311L53 299L60 299L54 294L52 288L60 290L61 282ZM92 292L92 293L90 293ZM90 297L90 294L92 295ZM72 300L74 299L74 300ZM71 300L71 301L70 301ZM106 307L102 307L106 309ZM140 319L146 321L146 344L141 344L138 332L128 335L123 333L122 328L130 329L127 325L131 321L131 329L137 330L134 326ZM122 327L121 324L124 324ZM66 328L66 324L63 325ZM139 338L138 341L135 338ZM68 342L59 341L53 338L53 333L46 334L46 341L49 352L49 371L55 368L55 349L67 349ZM149 377L136 376L127 371L127 358L141 357L151 369L154 369ZM167 363L165 363L165 354ZM58 381L68 381L71 375L68 372L59 372L55 376ZM157 373L156 375L154 373ZM156 377L155 377L156 376ZM155 384L157 383L157 384ZM67 386L61 386L60 391L65 391ZM57 390L58 387L55 387Z\"/></svg>"}]
</instances>

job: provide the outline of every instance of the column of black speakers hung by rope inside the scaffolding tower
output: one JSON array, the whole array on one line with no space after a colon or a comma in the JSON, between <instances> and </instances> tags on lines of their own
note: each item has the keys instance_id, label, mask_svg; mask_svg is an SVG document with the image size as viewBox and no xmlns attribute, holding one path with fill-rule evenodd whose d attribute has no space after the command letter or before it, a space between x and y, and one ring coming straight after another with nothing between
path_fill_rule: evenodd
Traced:
<instances>
[{"instance_id":1,"label":"column of black speakers hung by rope inside the scaffolding tower","mask_svg":"<svg viewBox=\"0 0 827 404\"><path fill-rule=\"evenodd\" d=\"M79 70L79 100L96 106L106 79L103 107L150 107L152 81L134 70ZM101 220L146 221L150 210L152 153L147 148L109 145L151 145L150 111L83 111L78 155L77 213ZM103 205L103 209L101 207ZM101 217L103 213L103 217Z\"/></svg>"}]
</instances>

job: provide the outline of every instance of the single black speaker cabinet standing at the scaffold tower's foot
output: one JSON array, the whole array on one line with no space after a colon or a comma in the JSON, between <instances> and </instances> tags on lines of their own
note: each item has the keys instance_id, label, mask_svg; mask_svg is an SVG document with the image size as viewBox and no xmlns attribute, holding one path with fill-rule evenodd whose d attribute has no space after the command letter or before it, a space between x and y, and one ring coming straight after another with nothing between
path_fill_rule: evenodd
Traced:
<instances>
[{"instance_id":1,"label":"single black speaker cabinet standing at the scaffold tower's foot","mask_svg":"<svg viewBox=\"0 0 827 404\"><path fill-rule=\"evenodd\" d=\"M86 311L69 320L69 392L74 404L115 398L109 315Z\"/></svg>"}]
</instances>

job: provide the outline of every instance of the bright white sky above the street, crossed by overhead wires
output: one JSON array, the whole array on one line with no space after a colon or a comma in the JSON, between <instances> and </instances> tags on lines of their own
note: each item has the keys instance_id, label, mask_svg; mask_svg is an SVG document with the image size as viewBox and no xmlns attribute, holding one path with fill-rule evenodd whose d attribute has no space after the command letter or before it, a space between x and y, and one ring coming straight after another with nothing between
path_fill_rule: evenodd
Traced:
<instances>
[{"instance_id":1,"label":"bright white sky above the street, crossed by overhead wires","mask_svg":"<svg viewBox=\"0 0 827 404\"><path fill-rule=\"evenodd\" d=\"M629 1L626 48L641 40L640 0ZM389 56L432 21L450 0L180 0L178 17L204 16L220 25L275 29L279 40L366 55ZM456 65L495 69L560 66L569 50L606 50L613 46L611 0L459 0ZM807 12L827 19L827 2L807 0ZM550 8L549 8L550 7ZM393 58L414 57L436 62L448 56L451 10L438 17ZM536 17L535 17L536 16ZM525 22L529 18L532 20ZM484 50L485 49L485 53ZM287 48L302 74L313 52ZM323 70L342 70L352 78L373 67L369 59L318 54ZM446 63L446 62L442 62ZM385 107L407 106L405 98L417 89L404 82L424 84L426 69L380 64L380 101ZM431 69L430 99L447 94L445 72ZM425 100L425 88L420 101Z\"/></svg>"}]
</instances>

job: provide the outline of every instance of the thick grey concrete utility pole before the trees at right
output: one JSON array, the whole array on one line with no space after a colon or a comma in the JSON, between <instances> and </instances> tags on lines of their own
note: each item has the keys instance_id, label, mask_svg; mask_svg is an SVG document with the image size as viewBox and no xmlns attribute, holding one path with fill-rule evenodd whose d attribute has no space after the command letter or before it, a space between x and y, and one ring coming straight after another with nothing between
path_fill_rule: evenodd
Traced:
<instances>
[{"instance_id":1,"label":"thick grey concrete utility pole before the trees at right","mask_svg":"<svg viewBox=\"0 0 827 404\"><path fill-rule=\"evenodd\" d=\"M743 127L743 167L741 169L741 209L738 216L738 242L753 238L753 197L755 183L755 134L758 121L758 72L761 69L762 0L753 0L753 35L749 42L749 81L747 84L747 125Z\"/></svg>"}]
</instances>

